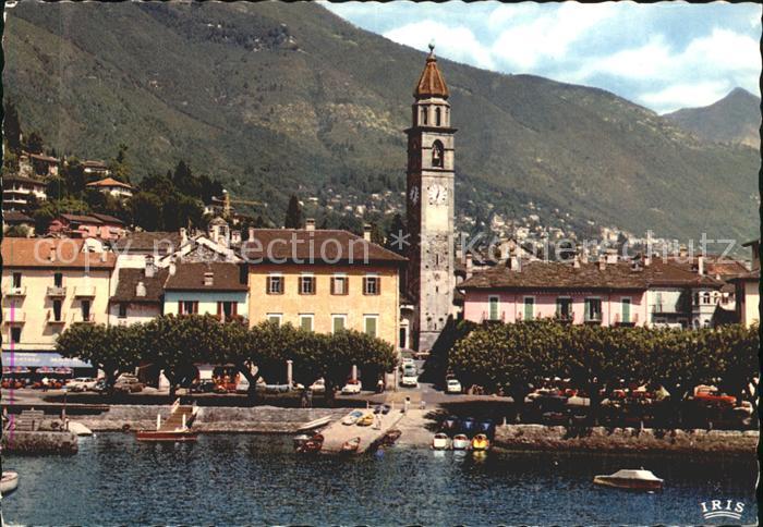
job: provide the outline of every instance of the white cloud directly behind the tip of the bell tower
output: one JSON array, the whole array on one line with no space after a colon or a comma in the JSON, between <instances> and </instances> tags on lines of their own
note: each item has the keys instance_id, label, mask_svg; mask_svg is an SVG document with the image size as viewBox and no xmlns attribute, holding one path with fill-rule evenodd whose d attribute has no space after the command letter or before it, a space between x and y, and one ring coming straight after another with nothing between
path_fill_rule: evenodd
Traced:
<instances>
[{"instance_id":1,"label":"white cloud directly behind the tip of the bell tower","mask_svg":"<svg viewBox=\"0 0 763 527\"><path fill-rule=\"evenodd\" d=\"M392 41L426 51L434 40L437 54L448 59L494 70L489 50L464 26L448 26L432 20L407 24L384 34Z\"/></svg>"}]
</instances>

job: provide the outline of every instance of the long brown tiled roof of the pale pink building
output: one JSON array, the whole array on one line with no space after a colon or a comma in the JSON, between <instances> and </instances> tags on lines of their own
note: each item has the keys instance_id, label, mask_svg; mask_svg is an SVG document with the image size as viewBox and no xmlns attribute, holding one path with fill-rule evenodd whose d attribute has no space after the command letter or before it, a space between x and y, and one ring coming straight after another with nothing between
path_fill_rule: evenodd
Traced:
<instances>
[{"instance_id":1,"label":"long brown tiled roof of the pale pink building","mask_svg":"<svg viewBox=\"0 0 763 527\"><path fill-rule=\"evenodd\" d=\"M580 264L579 268L566 262L533 261L519 270L505 265L480 271L459 285L460 289L586 289L586 290L646 290L650 286L719 287L710 277L700 277L662 261L633 270L630 262L607 264L602 270L598 262Z\"/></svg>"}]
</instances>

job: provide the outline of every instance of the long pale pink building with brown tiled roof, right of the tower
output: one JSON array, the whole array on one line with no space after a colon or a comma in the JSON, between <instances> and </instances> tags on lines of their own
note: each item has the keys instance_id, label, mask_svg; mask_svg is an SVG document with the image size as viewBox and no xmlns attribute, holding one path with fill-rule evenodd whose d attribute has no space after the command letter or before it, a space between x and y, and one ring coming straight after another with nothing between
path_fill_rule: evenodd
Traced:
<instances>
[{"instance_id":1,"label":"long pale pink building with brown tiled roof, right of the tower","mask_svg":"<svg viewBox=\"0 0 763 527\"><path fill-rule=\"evenodd\" d=\"M464 294L464 318L474 322L556 317L601 326L700 327L711 323L703 318L706 294L717 293L722 285L669 262L620 261L610 255L595 262L509 259L474 273L459 289ZM712 312L707 320L712 321Z\"/></svg>"}]
</instances>

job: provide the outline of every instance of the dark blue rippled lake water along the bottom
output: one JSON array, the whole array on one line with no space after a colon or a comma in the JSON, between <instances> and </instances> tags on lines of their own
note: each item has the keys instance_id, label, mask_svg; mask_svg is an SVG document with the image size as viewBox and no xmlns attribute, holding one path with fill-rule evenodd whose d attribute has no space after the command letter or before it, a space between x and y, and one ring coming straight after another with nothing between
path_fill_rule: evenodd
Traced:
<instances>
[{"instance_id":1,"label":"dark blue rippled lake water along the bottom","mask_svg":"<svg viewBox=\"0 0 763 527\"><path fill-rule=\"evenodd\" d=\"M591 483L596 474L639 466L664 478L665 490L631 493ZM303 457L286 437L145 444L101 433L81 439L75 456L5 455L3 469L21 475L19 489L2 500L11 524L688 525L708 523L700 502L713 499L741 501L742 522L756 518L753 454L475 457L392 448L383 455Z\"/></svg>"}]
</instances>

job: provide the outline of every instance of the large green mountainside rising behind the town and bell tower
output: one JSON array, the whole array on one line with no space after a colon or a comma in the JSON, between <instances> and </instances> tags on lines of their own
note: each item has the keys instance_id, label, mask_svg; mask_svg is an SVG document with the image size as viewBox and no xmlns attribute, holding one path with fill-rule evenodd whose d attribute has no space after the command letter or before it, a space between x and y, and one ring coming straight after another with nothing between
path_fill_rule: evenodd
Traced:
<instances>
[{"instance_id":1,"label":"large green mountainside rising behind the town and bell tower","mask_svg":"<svg viewBox=\"0 0 763 527\"><path fill-rule=\"evenodd\" d=\"M125 143L138 177L182 158L279 221L292 192L404 187L424 54L319 5L21 2L4 50L5 97L58 152L102 159ZM756 229L752 148L702 142L600 89L440 70L462 216L520 216L532 200L638 234Z\"/></svg>"}]
</instances>

